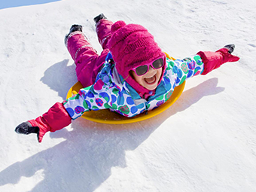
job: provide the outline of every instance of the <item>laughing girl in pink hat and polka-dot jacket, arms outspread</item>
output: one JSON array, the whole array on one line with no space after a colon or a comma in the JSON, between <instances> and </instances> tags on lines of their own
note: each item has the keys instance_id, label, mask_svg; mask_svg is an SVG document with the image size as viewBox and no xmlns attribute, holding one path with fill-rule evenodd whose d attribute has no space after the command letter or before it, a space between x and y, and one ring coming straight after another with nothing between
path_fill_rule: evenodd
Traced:
<instances>
[{"instance_id":1,"label":"laughing girl in pink hat and polka-dot jacket, arms outspread","mask_svg":"<svg viewBox=\"0 0 256 192\"><path fill-rule=\"evenodd\" d=\"M162 105L187 78L239 60L231 55L234 45L230 44L216 52L200 51L174 61L166 58L143 26L112 23L103 14L94 20L103 48L100 55L87 41L82 26L73 25L65 38L78 81L85 88L62 103L56 102L42 116L21 123L17 133L37 133L41 142L45 133L61 130L85 111L104 108L133 117Z\"/></svg>"}]
</instances>

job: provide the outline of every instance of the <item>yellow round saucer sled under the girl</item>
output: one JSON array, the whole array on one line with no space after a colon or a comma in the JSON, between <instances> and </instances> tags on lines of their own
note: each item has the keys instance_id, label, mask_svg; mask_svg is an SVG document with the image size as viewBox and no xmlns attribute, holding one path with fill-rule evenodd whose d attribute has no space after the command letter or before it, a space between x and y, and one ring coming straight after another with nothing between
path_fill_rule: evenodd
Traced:
<instances>
[{"instance_id":1,"label":"yellow round saucer sled under the girl","mask_svg":"<svg viewBox=\"0 0 256 192\"><path fill-rule=\"evenodd\" d=\"M169 56L167 55L167 57ZM179 85L178 87L175 87L172 93L172 96L170 96L170 98L165 103L163 103L163 105L160 105L158 108L155 108L152 111L148 111L148 114L138 114L135 117L124 117L123 115L114 113L112 111L109 111L108 109L102 109L98 111L84 112L84 114L81 117L97 123L108 123L108 124L135 123L141 120L147 120L151 117L156 116L157 114L162 113L167 108L169 108L178 99L178 97L181 96L181 93L184 90L184 86L185 86L185 81L183 82L183 84ZM79 90L81 90L82 88L84 87L78 81L75 85L73 85L70 88L66 98L69 99L73 95L78 94Z\"/></svg>"}]
</instances>

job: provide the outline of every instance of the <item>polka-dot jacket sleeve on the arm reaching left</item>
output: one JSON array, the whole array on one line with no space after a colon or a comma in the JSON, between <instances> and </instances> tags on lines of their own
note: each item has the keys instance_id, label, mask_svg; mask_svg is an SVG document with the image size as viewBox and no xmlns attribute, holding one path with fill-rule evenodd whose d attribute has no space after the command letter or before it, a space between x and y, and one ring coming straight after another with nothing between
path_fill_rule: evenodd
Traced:
<instances>
[{"instance_id":1,"label":"polka-dot jacket sleeve on the arm reaching left","mask_svg":"<svg viewBox=\"0 0 256 192\"><path fill-rule=\"evenodd\" d=\"M111 108L111 94L102 79L90 87L79 90L77 95L63 102L72 120L81 117L85 111Z\"/></svg>"}]
</instances>

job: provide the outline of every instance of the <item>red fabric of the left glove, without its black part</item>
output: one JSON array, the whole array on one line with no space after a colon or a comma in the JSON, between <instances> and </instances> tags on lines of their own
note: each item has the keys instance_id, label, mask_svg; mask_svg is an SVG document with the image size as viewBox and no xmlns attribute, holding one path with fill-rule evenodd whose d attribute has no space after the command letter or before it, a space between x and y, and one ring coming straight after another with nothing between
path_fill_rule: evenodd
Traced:
<instances>
[{"instance_id":1,"label":"red fabric of the left glove, without its black part","mask_svg":"<svg viewBox=\"0 0 256 192\"><path fill-rule=\"evenodd\" d=\"M39 127L38 142L41 142L44 134L48 131L55 132L68 126L72 122L68 112L62 103L56 102L46 113L37 117L35 120L29 120L32 126Z\"/></svg>"}]
</instances>

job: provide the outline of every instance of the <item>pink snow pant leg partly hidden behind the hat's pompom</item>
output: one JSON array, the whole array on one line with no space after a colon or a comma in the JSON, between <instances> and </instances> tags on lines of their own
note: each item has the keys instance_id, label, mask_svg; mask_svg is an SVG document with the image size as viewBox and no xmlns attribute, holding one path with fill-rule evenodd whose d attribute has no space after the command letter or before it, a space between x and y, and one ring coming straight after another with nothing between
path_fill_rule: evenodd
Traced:
<instances>
[{"instance_id":1,"label":"pink snow pant leg partly hidden behind the hat's pompom","mask_svg":"<svg viewBox=\"0 0 256 192\"><path fill-rule=\"evenodd\" d=\"M99 43L102 45L103 49L108 48L108 41L111 38L111 26L113 22L110 20L99 20L99 23L96 25L96 33L98 35Z\"/></svg>"}]
</instances>

